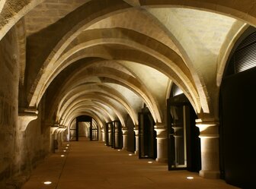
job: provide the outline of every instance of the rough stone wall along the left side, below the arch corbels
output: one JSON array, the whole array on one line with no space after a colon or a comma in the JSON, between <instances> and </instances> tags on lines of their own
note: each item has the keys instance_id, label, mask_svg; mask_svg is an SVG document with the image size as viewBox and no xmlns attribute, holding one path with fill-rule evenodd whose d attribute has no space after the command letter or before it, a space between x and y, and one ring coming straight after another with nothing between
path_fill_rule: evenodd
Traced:
<instances>
[{"instance_id":1,"label":"rough stone wall along the left side, below the arch corbels","mask_svg":"<svg viewBox=\"0 0 256 189\"><path fill-rule=\"evenodd\" d=\"M0 41L0 188L17 188L50 151L50 128L41 124L41 106L38 118L25 131L19 127L18 83L18 40L13 28Z\"/></svg>"}]
</instances>

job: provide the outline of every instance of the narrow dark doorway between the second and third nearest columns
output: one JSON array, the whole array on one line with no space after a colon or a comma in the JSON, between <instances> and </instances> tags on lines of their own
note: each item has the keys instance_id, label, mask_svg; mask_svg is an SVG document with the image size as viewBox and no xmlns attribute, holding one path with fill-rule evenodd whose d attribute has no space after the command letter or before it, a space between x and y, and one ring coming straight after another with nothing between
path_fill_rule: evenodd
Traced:
<instances>
[{"instance_id":1,"label":"narrow dark doorway between the second and third nearest columns","mask_svg":"<svg viewBox=\"0 0 256 189\"><path fill-rule=\"evenodd\" d=\"M139 158L156 159L155 121L148 108L139 112Z\"/></svg>"}]
</instances>

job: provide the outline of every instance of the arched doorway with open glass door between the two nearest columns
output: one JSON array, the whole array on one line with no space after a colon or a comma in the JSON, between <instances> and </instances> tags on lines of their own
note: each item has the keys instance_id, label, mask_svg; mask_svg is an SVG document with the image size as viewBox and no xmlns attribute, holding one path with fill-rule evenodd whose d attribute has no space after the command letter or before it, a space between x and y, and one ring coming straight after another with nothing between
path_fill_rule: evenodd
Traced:
<instances>
[{"instance_id":1,"label":"arched doorway with open glass door between the two nearest columns","mask_svg":"<svg viewBox=\"0 0 256 189\"><path fill-rule=\"evenodd\" d=\"M168 170L201 168L199 128L193 107L184 93L173 84L167 100Z\"/></svg>"}]
</instances>

